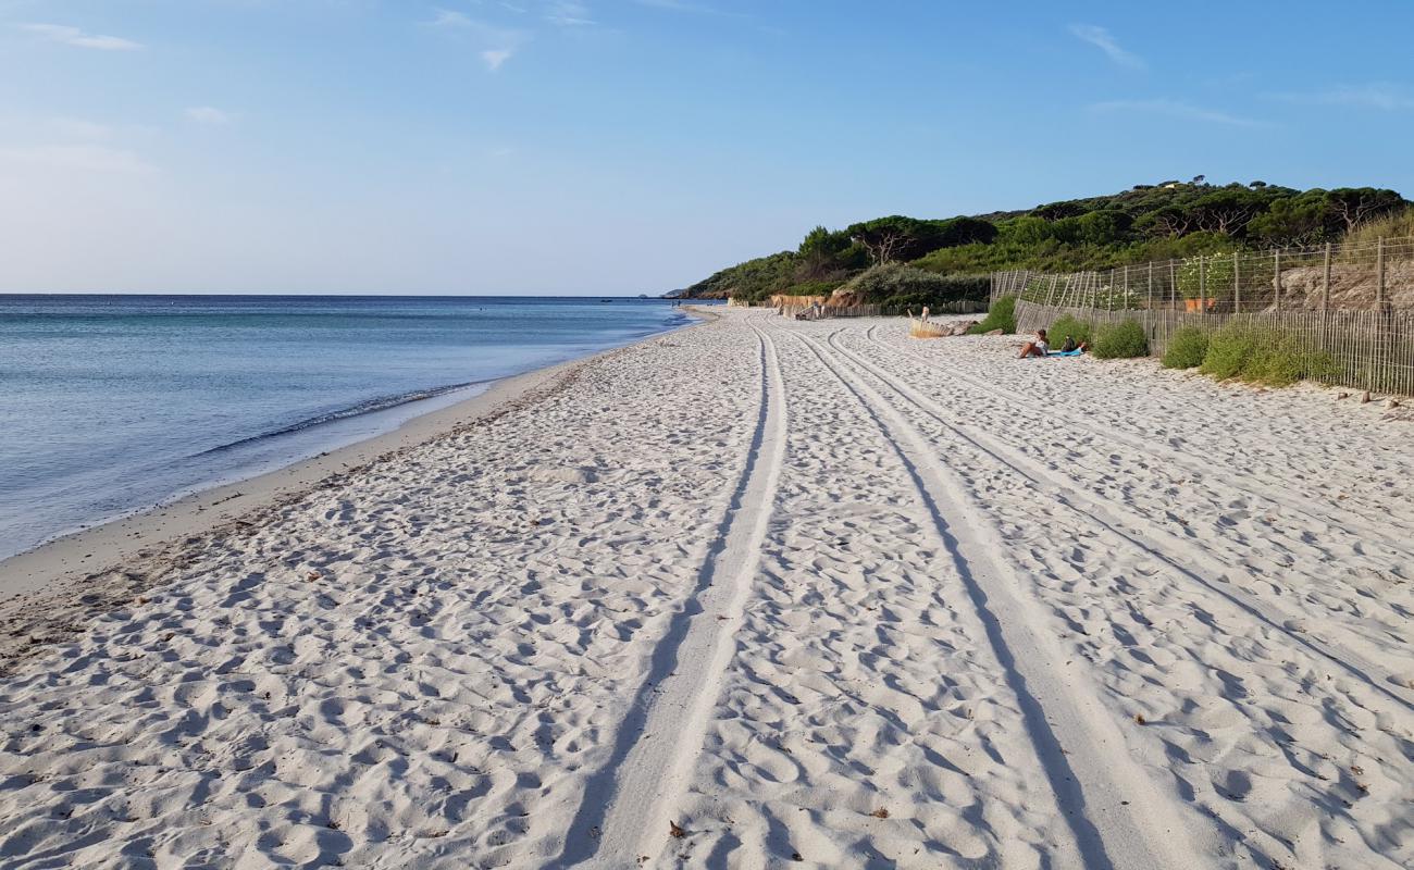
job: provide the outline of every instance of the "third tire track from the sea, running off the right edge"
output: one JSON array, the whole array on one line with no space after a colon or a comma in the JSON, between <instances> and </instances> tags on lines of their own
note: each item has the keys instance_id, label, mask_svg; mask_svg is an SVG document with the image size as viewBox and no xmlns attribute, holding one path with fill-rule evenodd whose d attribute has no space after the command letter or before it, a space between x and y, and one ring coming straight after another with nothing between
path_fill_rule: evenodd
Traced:
<instances>
[{"instance_id":1,"label":"third tire track from the sea, running off the right edge","mask_svg":"<svg viewBox=\"0 0 1414 870\"><path fill-rule=\"evenodd\" d=\"M1032 480L1038 487L1046 485L1052 488L1055 491L1053 501L1056 504L1082 514L1094 525L1099 525L1107 532L1118 536L1128 546L1167 564L1178 576L1186 579L1192 586L1200 587L1225 601L1227 608L1233 608L1247 618L1257 620L1273 631L1288 638L1295 645L1305 648L1307 651L1325 659L1329 665L1339 668L1355 679L1366 683L1386 699L1406 709L1414 709L1414 703L1410 702L1410 692L1396 680L1396 675L1390 672L1389 668L1367 659L1349 646L1291 630L1290 625L1298 622L1297 614L1292 614L1285 607L1271 601L1270 598L1251 594L1236 584L1222 584L1219 581L1209 580L1205 573L1199 573L1193 567L1184 564L1184 560L1179 556L1175 556L1175 553L1185 552L1186 549L1188 557L1202 564L1206 569L1206 573L1212 573L1213 577L1223 577L1233 573L1234 569L1230 564L1202 549L1185 547L1184 542L1176 540L1172 533L1158 528L1152 521L1141 515L1130 515L1130 522L1127 523L1123 516L1117 515L1100 498L1077 487L1068 485L1063 480L1058 480L1055 474L1048 471L1036 460L1032 460L1031 457L1017 451L1014 447L1004 446L995 439L977 431L976 427L963 430L957 423L945 419L942 405L939 402L919 393L912 386L899 383L898 378L889 378L887 372L880 371L877 366L864 361L853 351L841 347L836 338L837 334L831 332L829 344L843 358L848 359L860 371L870 373L870 376L884 383L889 390L916 407L925 416L932 417L957 437L970 441L974 447L988 454L1012 472Z\"/></svg>"}]
</instances>

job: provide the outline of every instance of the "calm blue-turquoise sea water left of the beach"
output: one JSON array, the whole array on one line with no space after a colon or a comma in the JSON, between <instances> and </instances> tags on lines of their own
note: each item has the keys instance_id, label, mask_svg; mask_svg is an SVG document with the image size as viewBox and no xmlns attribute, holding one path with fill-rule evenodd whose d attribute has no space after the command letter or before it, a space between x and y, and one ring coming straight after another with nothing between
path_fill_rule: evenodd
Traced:
<instances>
[{"instance_id":1,"label":"calm blue-turquoise sea water left of the beach","mask_svg":"<svg viewBox=\"0 0 1414 870\"><path fill-rule=\"evenodd\" d=\"M684 323L663 300L0 296L0 557Z\"/></svg>"}]
</instances>

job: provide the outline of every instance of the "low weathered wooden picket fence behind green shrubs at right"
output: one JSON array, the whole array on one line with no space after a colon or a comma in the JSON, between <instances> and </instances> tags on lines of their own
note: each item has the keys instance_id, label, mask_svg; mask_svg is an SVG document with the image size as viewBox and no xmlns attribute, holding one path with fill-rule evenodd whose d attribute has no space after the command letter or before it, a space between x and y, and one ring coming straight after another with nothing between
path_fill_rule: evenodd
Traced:
<instances>
[{"instance_id":1,"label":"low weathered wooden picket fence behind green shrubs at right","mask_svg":"<svg viewBox=\"0 0 1414 870\"><path fill-rule=\"evenodd\" d=\"M1331 371L1316 372L1315 381L1367 389L1381 393L1414 396L1414 311L1325 310L1325 311L1254 311L1186 313L1164 308L1106 311L1090 307L1045 306L1017 301L1017 330L1034 332L1049 328L1069 314L1083 323L1117 324L1133 320L1144 327L1150 352L1164 354L1169 338L1182 327L1216 330L1227 323L1241 323L1297 341L1329 355Z\"/></svg>"}]
</instances>

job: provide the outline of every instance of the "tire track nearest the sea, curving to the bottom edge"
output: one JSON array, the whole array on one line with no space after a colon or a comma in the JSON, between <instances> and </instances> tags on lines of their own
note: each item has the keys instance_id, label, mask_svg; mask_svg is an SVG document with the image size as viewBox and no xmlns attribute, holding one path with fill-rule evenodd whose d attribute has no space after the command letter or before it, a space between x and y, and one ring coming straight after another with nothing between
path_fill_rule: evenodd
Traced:
<instances>
[{"instance_id":1,"label":"tire track nearest the sea, curving to the bottom edge","mask_svg":"<svg viewBox=\"0 0 1414 870\"><path fill-rule=\"evenodd\" d=\"M731 662L730 639L761 562L786 450L775 342L748 325L761 342L761 412L745 467L697 584L653 651L614 753L584 787L556 866L621 870L653 860L669 842L667 813L679 805L701 751Z\"/></svg>"}]
</instances>

